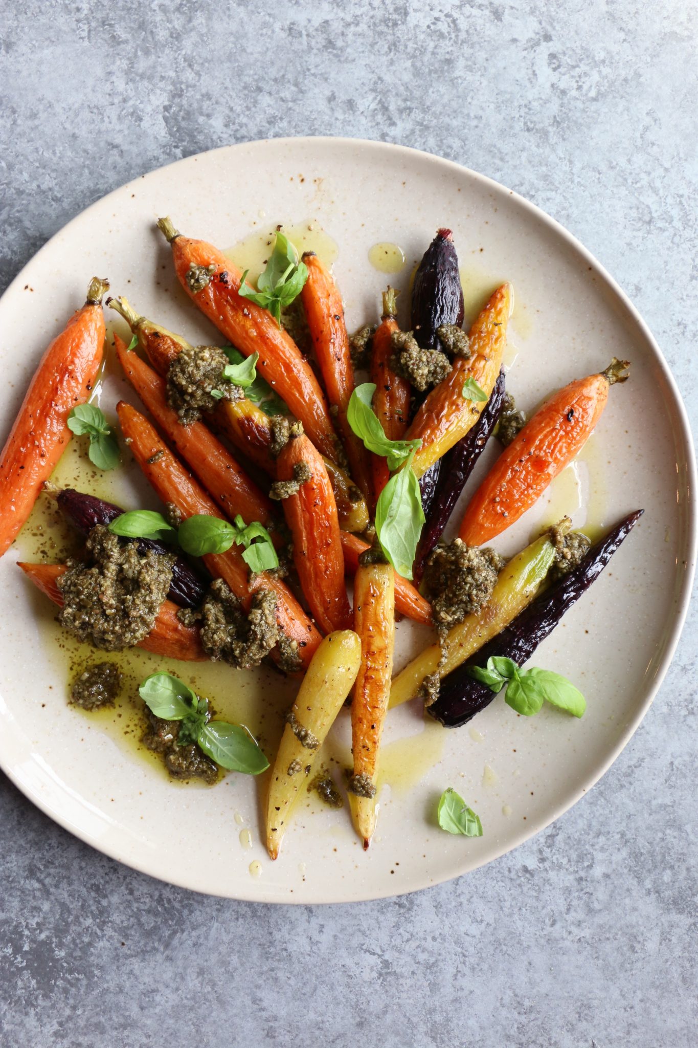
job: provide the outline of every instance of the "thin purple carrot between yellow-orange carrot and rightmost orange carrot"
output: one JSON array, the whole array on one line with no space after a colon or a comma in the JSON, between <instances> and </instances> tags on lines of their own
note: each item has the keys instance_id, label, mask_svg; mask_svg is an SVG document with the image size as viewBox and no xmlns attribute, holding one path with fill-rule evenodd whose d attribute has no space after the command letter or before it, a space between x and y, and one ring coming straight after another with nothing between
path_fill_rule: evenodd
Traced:
<instances>
[{"instance_id":1,"label":"thin purple carrot between yellow-orange carrot and rightmost orange carrot","mask_svg":"<svg viewBox=\"0 0 698 1048\"><path fill-rule=\"evenodd\" d=\"M494 384L485 411L480 413L480 417L470 433L458 440L457 444L454 444L441 460L443 462L441 479L436 485L435 496L432 497L431 511L429 512L426 507L424 510L427 522L422 531L412 569L418 582L424 572L427 556L441 539L458 497L497 424L497 419L504 407L504 371L502 369ZM428 476L428 473L424 476ZM424 480L424 477L422 479ZM422 504L424 505L424 497Z\"/></svg>"}]
</instances>

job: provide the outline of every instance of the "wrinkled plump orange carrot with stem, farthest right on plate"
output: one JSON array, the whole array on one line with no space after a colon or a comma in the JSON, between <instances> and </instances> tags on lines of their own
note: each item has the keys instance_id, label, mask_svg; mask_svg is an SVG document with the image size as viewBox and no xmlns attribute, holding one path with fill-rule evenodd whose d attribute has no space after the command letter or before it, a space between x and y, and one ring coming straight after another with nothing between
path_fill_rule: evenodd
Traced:
<instances>
[{"instance_id":1,"label":"wrinkled plump orange carrot with stem, farthest right on plate","mask_svg":"<svg viewBox=\"0 0 698 1048\"><path fill-rule=\"evenodd\" d=\"M554 393L505 447L470 500L458 534L481 546L517 521L582 450L614 383L628 377L628 361L613 357L605 371Z\"/></svg>"}]
</instances>

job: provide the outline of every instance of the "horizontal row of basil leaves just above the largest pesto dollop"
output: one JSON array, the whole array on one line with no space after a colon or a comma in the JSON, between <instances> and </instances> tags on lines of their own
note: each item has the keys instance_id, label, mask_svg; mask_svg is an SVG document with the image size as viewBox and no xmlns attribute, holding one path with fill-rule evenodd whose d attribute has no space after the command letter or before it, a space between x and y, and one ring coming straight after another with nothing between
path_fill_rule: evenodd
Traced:
<instances>
[{"instance_id":1,"label":"horizontal row of basil leaves just above the largest pesto dollop","mask_svg":"<svg viewBox=\"0 0 698 1048\"><path fill-rule=\"evenodd\" d=\"M177 542L192 556L225 553L233 545L244 546L243 560L252 571L278 567L278 556L266 527L258 521L246 524L240 514L232 524L220 517L197 514L174 528L162 514L152 509L132 509L113 520L109 530L127 539Z\"/></svg>"}]
</instances>

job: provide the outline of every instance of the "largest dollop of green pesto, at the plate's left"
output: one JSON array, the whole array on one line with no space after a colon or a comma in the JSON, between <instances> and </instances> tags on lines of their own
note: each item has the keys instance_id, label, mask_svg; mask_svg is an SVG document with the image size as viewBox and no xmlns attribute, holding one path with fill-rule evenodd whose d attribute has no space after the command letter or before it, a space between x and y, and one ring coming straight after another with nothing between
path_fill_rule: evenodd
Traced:
<instances>
[{"instance_id":1,"label":"largest dollop of green pesto, at the plate's left","mask_svg":"<svg viewBox=\"0 0 698 1048\"><path fill-rule=\"evenodd\" d=\"M106 527L90 531L88 562L69 560L58 582L61 625L104 651L132 648L153 629L167 596L176 558L125 543Z\"/></svg>"}]
</instances>

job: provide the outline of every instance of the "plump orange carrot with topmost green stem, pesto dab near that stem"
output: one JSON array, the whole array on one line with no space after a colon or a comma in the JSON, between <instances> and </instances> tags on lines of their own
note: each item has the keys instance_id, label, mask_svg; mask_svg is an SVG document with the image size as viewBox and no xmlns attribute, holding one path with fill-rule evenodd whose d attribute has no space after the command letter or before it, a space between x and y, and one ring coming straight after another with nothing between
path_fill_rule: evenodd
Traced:
<instances>
[{"instance_id":1,"label":"plump orange carrot with topmost green stem, pesto dab near that stem","mask_svg":"<svg viewBox=\"0 0 698 1048\"><path fill-rule=\"evenodd\" d=\"M172 245L177 277L189 298L241 352L260 354L260 373L300 419L315 445L335 459L337 441L328 402L293 339L269 310L238 293L243 275L222 252L203 240L183 237L168 218L161 218L158 226Z\"/></svg>"}]
</instances>

